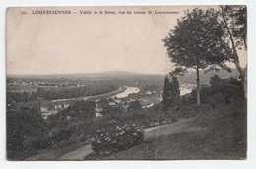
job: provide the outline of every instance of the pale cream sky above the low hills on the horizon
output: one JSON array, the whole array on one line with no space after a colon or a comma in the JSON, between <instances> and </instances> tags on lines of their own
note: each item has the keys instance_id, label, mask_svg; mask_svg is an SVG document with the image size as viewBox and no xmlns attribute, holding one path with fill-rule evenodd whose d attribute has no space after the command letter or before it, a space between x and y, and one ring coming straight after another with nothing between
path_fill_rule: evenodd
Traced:
<instances>
[{"instance_id":1,"label":"pale cream sky above the low hills on the horizon","mask_svg":"<svg viewBox=\"0 0 256 169\"><path fill-rule=\"evenodd\" d=\"M7 11L7 74L129 71L166 74L174 68L162 41L194 7L44 7ZM207 7L205 7L207 8ZM70 10L70 15L32 14ZM93 14L80 14L80 11ZM116 14L94 14L99 10ZM118 11L178 14L118 14ZM22 12L26 14L22 15Z\"/></svg>"}]
</instances>

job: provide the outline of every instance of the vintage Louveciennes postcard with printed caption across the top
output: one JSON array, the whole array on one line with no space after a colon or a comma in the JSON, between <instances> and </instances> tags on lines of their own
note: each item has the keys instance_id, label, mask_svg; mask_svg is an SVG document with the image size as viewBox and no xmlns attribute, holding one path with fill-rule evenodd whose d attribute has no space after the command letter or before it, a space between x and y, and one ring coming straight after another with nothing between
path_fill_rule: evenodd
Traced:
<instances>
[{"instance_id":1,"label":"vintage Louveciennes postcard with printed caption across the top","mask_svg":"<svg viewBox=\"0 0 256 169\"><path fill-rule=\"evenodd\" d=\"M247 8L6 9L8 160L247 157Z\"/></svg>"}]
</instances>

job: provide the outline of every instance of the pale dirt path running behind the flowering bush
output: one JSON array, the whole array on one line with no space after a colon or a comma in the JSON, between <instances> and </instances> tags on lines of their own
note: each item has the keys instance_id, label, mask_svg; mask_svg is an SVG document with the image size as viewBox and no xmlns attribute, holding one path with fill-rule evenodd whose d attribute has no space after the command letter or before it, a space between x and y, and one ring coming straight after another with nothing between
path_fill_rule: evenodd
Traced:
<instances>
[{"instance_id":1,"label":"pale dirt path running behind the flowering bush","mask_svg":"<svg viewBox=\"0 0 256 169\"><path fill-rule=\"evenodd\" d=\"M197 128L189 127L189 124L193 120L194 118L181 119L177 122L173 122L170 124L146 128L144 129L145 139L147 140L152 137L158 137L160 135L168 135L177 132L199 130ZM92 152L93 150L91 148L91 145L87 145L69 153L66 153L65 155L61 156L59 160L83 160L85 156L89 155Z\"/></svg>"}]
</instances>

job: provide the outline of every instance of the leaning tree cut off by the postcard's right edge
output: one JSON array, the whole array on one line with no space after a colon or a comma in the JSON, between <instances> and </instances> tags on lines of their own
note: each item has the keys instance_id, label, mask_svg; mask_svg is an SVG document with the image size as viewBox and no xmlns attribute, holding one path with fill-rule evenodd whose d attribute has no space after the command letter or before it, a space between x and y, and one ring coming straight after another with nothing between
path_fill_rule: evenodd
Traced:
<instances>
[{"instance_id":1,"label":"leaning tree cut off by the postcard's right edge","mask_svg":"<svg viewBox=\"0 0 256 169\"><path fill-rule=\"evenodd\" d=\"M239 63L237 50L247 50L247 9L246 6L220 6L222 24L230 41L232 54L230 60L235 64L244 85L244 97L247 99L247 64L243 69Z\"/></svg>"}]
</instances>

